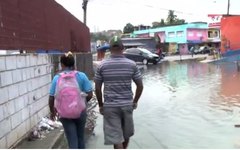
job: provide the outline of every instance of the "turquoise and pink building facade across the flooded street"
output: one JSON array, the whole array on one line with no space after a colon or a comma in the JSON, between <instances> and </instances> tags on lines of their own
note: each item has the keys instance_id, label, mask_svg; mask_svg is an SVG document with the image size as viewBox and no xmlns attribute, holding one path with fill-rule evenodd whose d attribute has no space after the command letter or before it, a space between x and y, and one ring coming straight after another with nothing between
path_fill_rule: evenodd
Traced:
<instances>
[{"instance_id":1,"label":"turquoise and pink building facade across the flooded street","mask_svg":"<svg viewBox=\"0 0 240 150\"><path fill-rule=\"evenodd\" d=\"M208 24L204 22L188 23L183 25L159 27L134 31L134 37L158 36L161 43L168 45L169 53L189 53L191 46L203 45L208 40Z\"/></svg>"}]
</instances>

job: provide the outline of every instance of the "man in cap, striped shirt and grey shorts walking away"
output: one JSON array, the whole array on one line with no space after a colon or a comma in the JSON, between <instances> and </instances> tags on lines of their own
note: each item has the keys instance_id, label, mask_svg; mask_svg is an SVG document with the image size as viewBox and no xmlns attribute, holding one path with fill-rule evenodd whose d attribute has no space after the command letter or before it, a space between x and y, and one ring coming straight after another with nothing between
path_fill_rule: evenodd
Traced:
<instances>
[{"instance_id":1,"label":"man in cap, striped shirt and grey shorts walking away","mask_svg":"<svg viewBox=\"0 0 240 150\"><path fill-rule=\"evenodd\" d=\"M111 39L110 52L111 56L97 68L95 90L99 111L104 118L104 144L113 145L115 149L126 149L129 138L134 134L133 109L137 108L142 94L142 76L136 63L124 57L119 37ZM132 81L136 84L134 98Z\"/></svg>"}]
</instances>

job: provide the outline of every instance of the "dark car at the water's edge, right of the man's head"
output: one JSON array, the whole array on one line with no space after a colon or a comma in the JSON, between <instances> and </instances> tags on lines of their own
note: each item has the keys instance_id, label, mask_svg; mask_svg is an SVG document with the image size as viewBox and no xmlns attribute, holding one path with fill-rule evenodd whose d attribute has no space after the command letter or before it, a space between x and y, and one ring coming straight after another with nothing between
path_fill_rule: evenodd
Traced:
<instances>
[{"instance_id":1,"label":"dark car at the water's edge, right of the man's head","mask_svg":"<svg viewBox=\"0 0 240 150\"><path fill-rule=\"evenodd\" d=\"M157 64L160 60L157 54L154 54L145 48L128 48L123 54L126 58L135 62L142 62L145 65L148 63Z\"/></svg>"}]
</instances>

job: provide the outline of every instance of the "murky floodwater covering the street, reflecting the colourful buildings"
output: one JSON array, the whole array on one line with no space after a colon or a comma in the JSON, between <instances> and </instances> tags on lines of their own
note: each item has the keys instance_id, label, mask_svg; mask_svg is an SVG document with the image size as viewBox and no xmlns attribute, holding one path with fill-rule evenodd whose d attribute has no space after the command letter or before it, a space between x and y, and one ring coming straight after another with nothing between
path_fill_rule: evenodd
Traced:
<instances>
[{"instance_id":1,"label":"murky floodwater covering the street, reflecting the colourful buildings","mask_svg":"<svg viewBox=\"0 0 240 150\"><path fill-rule=\"evenodd\" d=\"M162 62L142 69L144 92L129 148L240 148L240 72L234 63ZM102 117L89 148L103 145Z\"/></svg>"}]
</instances>

